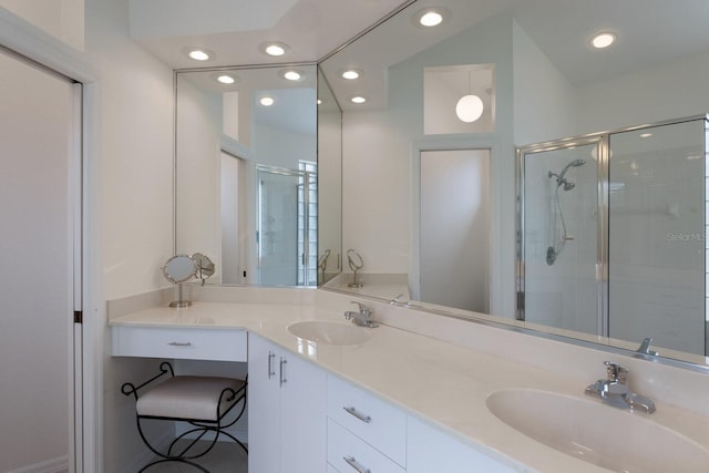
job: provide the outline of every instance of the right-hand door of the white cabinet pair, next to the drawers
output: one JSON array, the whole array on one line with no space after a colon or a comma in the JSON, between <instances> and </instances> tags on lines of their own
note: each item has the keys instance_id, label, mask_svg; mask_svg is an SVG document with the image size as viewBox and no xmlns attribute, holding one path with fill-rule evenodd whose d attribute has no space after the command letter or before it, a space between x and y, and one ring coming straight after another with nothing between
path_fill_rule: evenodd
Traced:
<instances>
[{"instance_id":1,"label":"right-hand door of the white cabinet pair, next to the drawers","mask_svg":"<svg viewBox=\"0 0 709 473\"><path fill-rule=\"evenodd\" d=\"M327 376L296 354L281 358L280 471L325 473Z\"/></svg>"}]
</instances>

